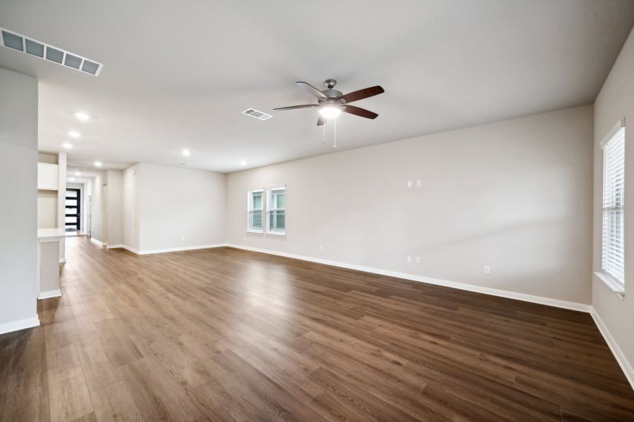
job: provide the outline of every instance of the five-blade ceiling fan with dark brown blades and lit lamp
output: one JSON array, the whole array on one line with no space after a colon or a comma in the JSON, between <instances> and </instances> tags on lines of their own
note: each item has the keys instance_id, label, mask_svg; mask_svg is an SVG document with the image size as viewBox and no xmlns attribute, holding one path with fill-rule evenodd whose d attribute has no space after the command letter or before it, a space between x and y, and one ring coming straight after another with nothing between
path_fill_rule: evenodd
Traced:
<instances>
[{"instance_id":1,"label":"five-blade ceiling fan with dark brown blades and lit lamp","mask_svg":"<svg viewBox=\"0 0 634 422\"><path fill-rule=\"evenodd\" d=\"M317 126L322 126L326 119L334 119L341 112L349 113L356 116L366 117L366 119L375 119L378 114L373 113L365 108L351 106L349 103L352 101L363 100L378 94L383 94L385 90L377 85L376 87L370 87L365 89L359 89L359 91L353 91L348 94L343 94L341 91L337 91L335 85L337 81L335 79L326 79L323 84L327 89L319 91L308 82L295 82L300 88L309 91L311 94L317 97L317 104L303 104L302 106L289 106L273 108L273 110L294 110L295 108L319 108L319 119L317 120Z\"/></svg>"}]
</instances>

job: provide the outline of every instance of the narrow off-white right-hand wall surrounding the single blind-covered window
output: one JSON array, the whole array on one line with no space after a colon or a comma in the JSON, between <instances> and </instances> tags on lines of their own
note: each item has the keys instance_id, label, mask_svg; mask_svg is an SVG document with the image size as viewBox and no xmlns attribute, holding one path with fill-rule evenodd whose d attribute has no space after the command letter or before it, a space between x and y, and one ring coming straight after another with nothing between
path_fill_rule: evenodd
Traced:
<instances>
[{"instance_id":1,"label":"narrow off-white right-hand wall surrounding the single blind-covered window","mask_svg":"<svg viewBox=\"0 0 634 422\"><path fill-rule=\"evenodd\" d=\"M623 358L629 362L630 382L634 383L634 32L623 46L619 58L595 102L595 218L593 269L601 269L602 169L599 142L622 117L626 117L625 169L625 271L626 295L623 300L596 276L592 279L592 306L602 319Z\"/></svg>"}]
</instances>

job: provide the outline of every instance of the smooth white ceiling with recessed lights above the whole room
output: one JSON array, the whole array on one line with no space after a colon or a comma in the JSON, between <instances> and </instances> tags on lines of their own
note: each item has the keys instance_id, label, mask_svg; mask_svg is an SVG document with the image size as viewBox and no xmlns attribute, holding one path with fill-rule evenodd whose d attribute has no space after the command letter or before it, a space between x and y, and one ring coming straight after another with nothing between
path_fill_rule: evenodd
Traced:
<instances>
[{"instance_id":1,"label":"smooth white ceiling with recessed lights above the whole room","mask_svg":"<svg viewBox=\"0 0 634 422\"><path fill-rule=\"evenodd\" d=\"M359 148L592 103L632 25L630 0L0 0L0 27L104 69L6 48L0 66L39 78L40 150L81 132L70 165L231 172L332 152L316 110L272 111L314 101L296 80L385 88L355 103L376 120L337 120L338 149Z\"/></svg>"}]
</instances>

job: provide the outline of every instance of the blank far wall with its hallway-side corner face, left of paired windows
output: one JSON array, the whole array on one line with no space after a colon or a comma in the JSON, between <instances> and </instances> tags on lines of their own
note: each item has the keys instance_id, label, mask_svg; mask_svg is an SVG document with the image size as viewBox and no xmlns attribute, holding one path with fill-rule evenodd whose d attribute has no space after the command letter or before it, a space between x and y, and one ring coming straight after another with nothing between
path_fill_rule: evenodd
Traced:
<instances>
[{"instance_id":1,"label":"blank far wall with its hallway-side corner face, left of paired windows","mask_svg":"<svg viewBox=\"0 0 634 422\"><path fill-rule=\"evenodd\" d=\"M225 174L146 163L125 170L125 245L149 252L225 243L226 179Z\"/></svg>"}]
</instances>

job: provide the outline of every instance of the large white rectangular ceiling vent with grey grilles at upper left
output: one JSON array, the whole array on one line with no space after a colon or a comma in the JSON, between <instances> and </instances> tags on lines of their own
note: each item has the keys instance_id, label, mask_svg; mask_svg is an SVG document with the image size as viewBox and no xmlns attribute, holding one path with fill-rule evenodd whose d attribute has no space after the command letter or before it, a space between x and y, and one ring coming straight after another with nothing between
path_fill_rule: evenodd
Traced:
<instances>
[{"instance_id":1,"label":"large white rectangular ceiling vent with grey grilles at upper left","mask_svg":"<svg viewBox=\"0 0 634 422\"><path fill-rule=\"evenodd\" d=\"M104 65L94 60L79 56L75 53L69 53L54 46L49 46L42 41L27 38L23 35L16 34L0 28L2 32L2 45L8 49L22 51L42 58L46 61L57 63L65 68L79 70L80 72L89 73L90 75L99 76Z\"/></svg>"}]
</instances>

